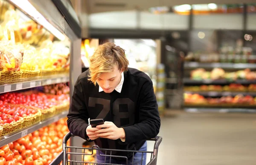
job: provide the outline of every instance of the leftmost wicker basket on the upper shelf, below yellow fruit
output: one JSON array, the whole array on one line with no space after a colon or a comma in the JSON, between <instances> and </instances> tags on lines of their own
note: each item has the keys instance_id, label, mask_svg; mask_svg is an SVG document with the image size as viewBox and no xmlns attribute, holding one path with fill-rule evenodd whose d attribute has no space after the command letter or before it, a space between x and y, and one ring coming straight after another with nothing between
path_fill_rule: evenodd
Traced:
<instances>
[{"instance_id":1,"label":"leftmost wicker basket on the upper shelf, below yellow fruit","mask_svg":"<svg viewBox=\"0 0 256 165\"><path fill-rule=\"evenodd\" d=\"M9 71L0 71L0 82L6 84L13 84L21 82L23 71L9 72Z\"/></svg>"}]
</instances>

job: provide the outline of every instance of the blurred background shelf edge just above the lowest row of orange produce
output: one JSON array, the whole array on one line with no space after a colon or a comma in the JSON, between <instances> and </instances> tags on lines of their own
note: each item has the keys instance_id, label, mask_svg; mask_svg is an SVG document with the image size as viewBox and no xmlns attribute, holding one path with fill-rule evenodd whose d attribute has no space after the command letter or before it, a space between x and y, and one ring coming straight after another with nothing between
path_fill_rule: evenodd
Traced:
<instances>
[{"instance_id":1,"label":"blurred background shelf edge just above the lowest row of orange produce","mask_svg":"<svg viewBox=\"0 0 256 165\"><path fill-rule=\"evenodd\" d=\"M192 92L192 91L184 91L184 93L191 93L191 94L199 94L204 97L222 97L222 96L236 96L236 95L251 95L253 97L256 97L256 92L217 92L217 91L197 91L197 92Z\"/></svg>"}]
</instances>

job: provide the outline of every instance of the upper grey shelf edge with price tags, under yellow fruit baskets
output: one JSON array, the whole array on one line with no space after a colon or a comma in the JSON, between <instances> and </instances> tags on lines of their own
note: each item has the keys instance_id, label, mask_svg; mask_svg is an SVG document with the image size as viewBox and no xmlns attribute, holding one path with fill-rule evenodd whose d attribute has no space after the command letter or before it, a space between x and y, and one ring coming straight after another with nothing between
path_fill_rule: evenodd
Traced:
<instances>
[{"instance_id":1,"label":"upper grey shelf edge with price tags, under yellow fruit baskets","mask_svg":"<svg viewBox=\"0 0 256 165\"><path fill-rule=\"evenodd\" d=\"M40 87L44 85L57 84L69 81L69 75L54 75L54 76L44 76L33 78L33 79L24 79L23 82L15 84L1 84L0 93L11 92L20 89L27 89L33 87Z\"/></svg>"}]
</instances>

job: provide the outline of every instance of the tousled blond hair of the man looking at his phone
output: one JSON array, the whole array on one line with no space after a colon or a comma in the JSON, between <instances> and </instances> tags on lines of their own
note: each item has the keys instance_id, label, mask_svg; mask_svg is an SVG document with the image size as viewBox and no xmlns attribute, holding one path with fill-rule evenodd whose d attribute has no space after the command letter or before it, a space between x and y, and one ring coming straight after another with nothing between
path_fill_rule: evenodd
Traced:
<instances>
[{"instance_id":1,"label":"tousled blond hair of the man looking at his phone","mask_svg":"<svg viewBox=\"0 0 256 165\"><path fill-rule=\"evenodd\" d=\"M89 80L96 85L96 80L102 73L110 73L114 67L126 71L128 68L128 59L125 57L125 50L116 46L113 42L106 42L95 50L89 58L90 78Z\"/></svg>"}]
</instances>

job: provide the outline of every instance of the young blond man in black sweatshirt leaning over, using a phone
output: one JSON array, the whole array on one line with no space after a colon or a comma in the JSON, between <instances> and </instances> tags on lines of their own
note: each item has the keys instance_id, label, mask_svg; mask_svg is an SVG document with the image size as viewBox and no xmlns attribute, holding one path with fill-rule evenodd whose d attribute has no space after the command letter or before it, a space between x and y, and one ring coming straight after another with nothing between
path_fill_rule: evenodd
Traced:
<instances>
[{"instance_id":1,"label":"young blond man in black sweatshirt leaning over, using a phone","mask_svg":"<svg viewBox=\"0 0 256 165\"><path fill-rule=\"evenodd\" d=\"M151 79L143 72L128 68L125 51L108 42L90 57L89 70L76 81L67 125L74 135L94 141L100 148L146 151L146 139L157 136L160 117ZM90 119L105 123L92 128ZM104 129L102 129L104 128ZM110 157L97 152L98 163L110 163ZM110 153L107 153L110 154ZM142 154L112 152L128 157L129 164L141 163ZM143 154L143 165L145 165ZM126 159L111 157L111 164Z\"/></svg>"}]
</instances>

